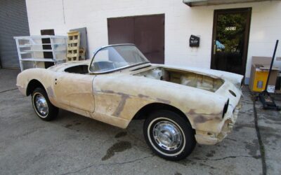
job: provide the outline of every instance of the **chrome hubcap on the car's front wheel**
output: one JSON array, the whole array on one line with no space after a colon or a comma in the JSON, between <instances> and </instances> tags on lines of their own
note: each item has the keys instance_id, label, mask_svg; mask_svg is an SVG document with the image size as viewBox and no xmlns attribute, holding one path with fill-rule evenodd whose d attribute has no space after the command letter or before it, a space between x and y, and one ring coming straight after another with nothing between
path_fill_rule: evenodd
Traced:
<instances>
[{"instance_id":1,"label":"chrome hubcap on the car's front wheel","mask_svg":"<svg viewBox=\"0 0 281 175\"><path fill-rule=\"evenodd\" d=\"M166 151L176 150L181 146L183 136L181 130L169 121L161 121L153 127L153 138L158 146Z\"/></svg>"}]
</instances>

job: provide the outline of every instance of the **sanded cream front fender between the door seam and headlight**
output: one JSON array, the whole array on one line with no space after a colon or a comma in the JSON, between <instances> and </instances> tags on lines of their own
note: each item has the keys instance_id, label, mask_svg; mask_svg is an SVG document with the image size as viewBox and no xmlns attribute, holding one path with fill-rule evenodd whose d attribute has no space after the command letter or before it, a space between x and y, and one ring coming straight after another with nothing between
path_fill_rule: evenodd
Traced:
<instances>
[{"instance_id":1,"label":"sanded cream front fender between the door seam and headlight","mask_svg":"<svg viewBox=\"0 0 281 175\"><path fill-rule=\"evenodd\" d=\"M122 73L100 75L93 82L96 114L122 118L128 124L143 106L162 103L185 113L192 127L196 128L197 124L207 121L221 121L223 106L228 100L219 94L195 87Z\"/></svg>"}]
</instances>

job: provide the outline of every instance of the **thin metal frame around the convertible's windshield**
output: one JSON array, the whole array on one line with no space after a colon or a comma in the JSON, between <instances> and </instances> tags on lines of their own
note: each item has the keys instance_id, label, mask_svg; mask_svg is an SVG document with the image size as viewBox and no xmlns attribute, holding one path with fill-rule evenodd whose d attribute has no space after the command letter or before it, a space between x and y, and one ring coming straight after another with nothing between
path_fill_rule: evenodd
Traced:
<instances>
[{"instance_id":1,"label":"thin metal frame around the convertible's windshield","mask_svg":"<svg viewBox=\"0 0 281 175\"><path fill-rule=\"evenodd\" d=\"M136 47L136 45L132 44L132 43L122 43L122 44L112 44L112 45L105 45L103 47L100 47L98 48L94 54L93 54L93 57L91 59L91 62L88 66L88 71L90 74L102 74L102 73L111 73L111 72L114 72L114 71L119 71L119 70L122 70L122 69L126 69L126 68L130 68L130 67L133 67L133 66L139 66L139 65L142 65L142 64L148 64L150 63L150 61L148 60L147 62L140 62L140 63L136 63L136 64L131 64L131 65L126 65L126 66L122 66L122 67L118 67L116 69L112 69L112 70L107 70L107 71L91 71L90 70L90 67L91 65L93 64L93 61L95 59L95 56L97 55L97 53L100 51L100 50L103 50L104 48L110 48L112 46L122 46L122 45L133 45ZM137 47L136 47L137 48ZM138 48L137 48L138 49ZM139 49L138 49L139 50ZM141 52L141 50L139 50ZM146 57L145 57L146 58ZM146 58L147 59L147 58Z\"/></svg>"}]
</instances>

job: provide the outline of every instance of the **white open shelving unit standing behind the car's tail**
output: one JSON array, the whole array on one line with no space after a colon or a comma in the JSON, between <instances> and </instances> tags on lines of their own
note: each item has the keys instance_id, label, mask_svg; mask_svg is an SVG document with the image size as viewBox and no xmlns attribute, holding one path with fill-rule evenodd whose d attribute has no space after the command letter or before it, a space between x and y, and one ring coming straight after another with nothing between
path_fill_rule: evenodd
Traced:
<instances>
[{"instance_id":1,"label":"white open shelving unit standing behind the car's tail","mask_svg":"<svg viewBox=\"0 0 281 175\"><path fill-rule=\"evenodd\" d=\"M59 64L66 61L67 36L15 36L21 71L34 67L44 68L44 62ZM42 38L49 38L50 43L42 43ZM44 49L43 45L51 45ZM52 58L44 58L44 52L52 52Z\"/></svg>"}]
</instances>

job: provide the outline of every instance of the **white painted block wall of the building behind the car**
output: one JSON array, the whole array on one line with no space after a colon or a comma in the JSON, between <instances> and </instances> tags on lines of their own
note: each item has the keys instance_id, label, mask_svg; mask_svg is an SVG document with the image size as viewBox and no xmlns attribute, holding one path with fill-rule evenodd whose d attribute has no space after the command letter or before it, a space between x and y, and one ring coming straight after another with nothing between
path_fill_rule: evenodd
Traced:
<instances>
[{"instance_id":1,"label":"white painted block wall of the building behind the car","mask_svg":"<svg viewBox=\"0 0 281 175\"><path fill-rule=\"evenodd\" d=\"M55 29L55 34L65 35L69 29L87 27L90 55L97 47L107 45L107 18L133 15L165 14L165 64L210 67L214 9L252 8L247 77L251 57L272 56L275 40L281 39L280 1L192 8L182 0L26 0L26 3L31 35L39 35L41 29ZM200 48L188 46L190 34L200 35ZM281 56L281 43L277 56ZM276 64L281 67L281 63Z\"/></svg>"}]
</instances>

